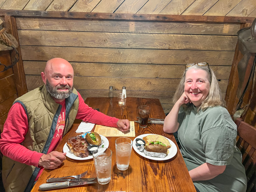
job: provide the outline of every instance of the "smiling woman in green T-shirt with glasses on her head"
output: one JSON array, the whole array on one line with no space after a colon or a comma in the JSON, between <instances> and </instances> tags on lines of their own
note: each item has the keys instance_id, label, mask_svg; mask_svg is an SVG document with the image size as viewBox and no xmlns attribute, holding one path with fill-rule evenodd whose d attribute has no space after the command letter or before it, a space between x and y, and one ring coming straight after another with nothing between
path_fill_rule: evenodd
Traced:
<instances>
[{"instance_id":1,"label":"smiling woman in green T-shirt with glasses on her head","mask_svg":"<svg viewBox=\"0 0 256 192\"><path fill-rule=\"evenodd\" d=\"M208 63L189 63L177 87L164 132L178 131L181 153L196 191L246 191L236 147L237 127Z\"/></svg>"}]
</instances>

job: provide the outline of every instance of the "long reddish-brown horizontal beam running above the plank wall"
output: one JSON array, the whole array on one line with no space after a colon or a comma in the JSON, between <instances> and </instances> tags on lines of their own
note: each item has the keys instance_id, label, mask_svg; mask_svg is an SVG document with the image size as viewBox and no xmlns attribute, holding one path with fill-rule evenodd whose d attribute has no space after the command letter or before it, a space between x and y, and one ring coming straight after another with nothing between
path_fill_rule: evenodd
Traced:
<instances>
[{"instance_id":1,"label":"long reddish-brown horizontal beam running above the plank wall","mask_svg":"<svg viewBox=\"0 0 256 192\"><path fill-rule=\"evenodd\" d=\"M185 21L185 22L229 22L252 23L253 17L226 16L191 16L191 15L154 15L131 13L91 13L69 11L28 11L28 10L0 10L0 16L15 17L56 17L80 19L117 19L117 20L147 20L147 21Z\"/></svg>"}]
</instances>

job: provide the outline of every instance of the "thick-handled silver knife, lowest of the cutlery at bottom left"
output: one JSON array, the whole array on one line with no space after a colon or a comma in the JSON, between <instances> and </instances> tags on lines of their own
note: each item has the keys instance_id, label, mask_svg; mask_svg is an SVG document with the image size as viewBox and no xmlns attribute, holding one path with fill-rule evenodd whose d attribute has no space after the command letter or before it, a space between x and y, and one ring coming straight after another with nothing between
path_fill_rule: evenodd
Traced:
<instances>
[{"instance_id":1,"label":"thick-handled silver knife, lowest of the cutlery at bottom left","mask_svg":"<svg viewBox=\"0 0 256 192\"><path fill-rule=\"evenodd\" d=\"M56 183L44 183L39 186L39 189L42 191L45 191L45 190L51 190L51 189L62 189L62 188L68 188L73 186L86 185L91 183L96 183L96 182L95 181L80 181L80 182L65 181L65 182L56 182Z\"/></svg>"}]
</instances>

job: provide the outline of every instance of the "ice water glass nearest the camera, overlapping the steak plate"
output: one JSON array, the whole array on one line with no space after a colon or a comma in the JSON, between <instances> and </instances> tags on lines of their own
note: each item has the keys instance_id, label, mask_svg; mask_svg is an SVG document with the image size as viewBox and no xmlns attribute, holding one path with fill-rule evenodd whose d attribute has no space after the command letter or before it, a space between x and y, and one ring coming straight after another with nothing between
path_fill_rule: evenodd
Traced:
<instances>
[{"instance_id":1,"label":"ice water glass nearest the camera, overlapping the steak plate","mask_svg":"<svg viewBox=\"0 0 256 192\"><path fill-rule=\"evenodd\" d=\"M112 151L109 148L99 148L92 154L98 182L102 185L111 180Z\"/></svg>"}]
</instances>

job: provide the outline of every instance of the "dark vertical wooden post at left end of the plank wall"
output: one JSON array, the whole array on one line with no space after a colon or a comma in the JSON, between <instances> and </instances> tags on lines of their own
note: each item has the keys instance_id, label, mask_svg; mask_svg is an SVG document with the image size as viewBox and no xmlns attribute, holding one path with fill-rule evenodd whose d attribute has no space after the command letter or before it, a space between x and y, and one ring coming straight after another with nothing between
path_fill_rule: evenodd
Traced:
<instances>
[{"instance_id":1,"label":"dark vertical wooden post at left end of the plank wall","mask_svg":"<svg viewBox=\"0 0 256 192\"><path fill-rule=\"evenodd\" d=\"M18 41L18 48L17 51L19 52L19 61L16 65L13 66L13 73L15 76L15 83L16 83L16 89L18 93L18 97L28 92L27 84L26 84L26 78L23 68L23 62L21 60L21 52L20 52L20 46L19 46L19 37L18 37L18 31L16 26L16 19L13 16L4 16L5 22L6 22L6 29L7 33L12 34L13 37L16 38ZM11 51L11 60L12 62L15 60L15 54L16 52L13 50Z\"/></svg>"}]
</instances>

